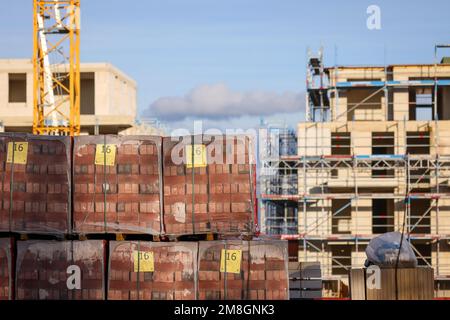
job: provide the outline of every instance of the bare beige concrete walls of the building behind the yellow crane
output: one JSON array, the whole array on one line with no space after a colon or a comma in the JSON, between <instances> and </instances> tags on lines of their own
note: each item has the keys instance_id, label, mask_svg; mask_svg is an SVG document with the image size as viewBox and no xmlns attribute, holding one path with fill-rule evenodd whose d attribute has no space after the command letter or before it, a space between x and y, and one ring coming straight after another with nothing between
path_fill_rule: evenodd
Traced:
<instances>
[{"instance_id":1,"label":"bare beige concrete walls of the building behind the yellow crane","mask_svg":"<svg viewBox=\"0 0 450 320\"><path fill-rule=\"evenodd\" d=\"M90 110L87 112L88 114L81 115L82 127L93 126L97 122L99 125L105 126L131 127L137 112L136 82L108 63L84 63L81 64L80 70L81 102L94 100L95 103L95 112ZM63 70L55 71L62 72ZM8 75L10 73L26 73L26 103L8 102ZM93 89L92 83L95 85ZM82 110L85 111L86 108L82 107ZM29 129L31 127L33 120L33 65L30 60L0 60L0 120L3 121L6 128Z\"/></svg>"}]
</instances>

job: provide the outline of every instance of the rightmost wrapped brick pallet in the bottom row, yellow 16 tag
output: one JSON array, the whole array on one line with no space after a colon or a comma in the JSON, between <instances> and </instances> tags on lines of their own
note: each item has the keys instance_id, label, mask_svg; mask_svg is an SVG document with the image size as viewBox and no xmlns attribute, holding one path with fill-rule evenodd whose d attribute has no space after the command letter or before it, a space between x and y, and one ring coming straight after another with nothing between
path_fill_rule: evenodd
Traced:
<instances>
[{"instance_id":1,"label":"rightmost wrapped brick pallet in the bottom row, yellow 16 tag","mask_svg":"<svg viewBox=\"0 0 450 320\"><path fill-rule=\"evenodd\" d=\"M287 257L285 241L200 242L198 299L287 300Z\"/></svg>"}]
</instances>

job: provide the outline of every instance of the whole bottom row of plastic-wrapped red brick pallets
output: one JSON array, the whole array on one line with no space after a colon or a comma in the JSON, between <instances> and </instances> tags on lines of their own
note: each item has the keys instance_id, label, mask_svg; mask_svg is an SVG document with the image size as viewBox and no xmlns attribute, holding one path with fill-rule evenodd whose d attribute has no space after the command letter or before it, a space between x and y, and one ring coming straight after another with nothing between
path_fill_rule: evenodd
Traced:
<instances>
[{"instance_id":1,"label":"whole bottom row of plastic-wrapped red brick pallets","mask_svg":"<svg viewBox=\"0 0 450 320\"><path fill-rule=\"evenodd\" d=\"M12 248L0 240L0 300L289 298L286 241L111 241L106 250L103 240L32 240L18 241L15 257Z\"/></svg>"}]
</instances>

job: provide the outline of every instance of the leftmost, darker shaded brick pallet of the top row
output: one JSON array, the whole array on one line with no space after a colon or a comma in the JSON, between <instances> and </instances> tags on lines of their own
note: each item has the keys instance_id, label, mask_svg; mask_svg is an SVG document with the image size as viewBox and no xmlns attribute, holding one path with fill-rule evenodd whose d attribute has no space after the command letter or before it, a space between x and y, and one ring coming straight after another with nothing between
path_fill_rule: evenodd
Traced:
<instances>
[{"instance_id":1,"label":"leftmost, darker shaded brick pallet of the top row","mask_svg":"<svg viewBox=\"0 0 450 320\"><path fill-rule=\"evenodd\" d=\"M0 164L0 231L70 232L70 138L0 134Z\"/></svg>"}]
</instances>

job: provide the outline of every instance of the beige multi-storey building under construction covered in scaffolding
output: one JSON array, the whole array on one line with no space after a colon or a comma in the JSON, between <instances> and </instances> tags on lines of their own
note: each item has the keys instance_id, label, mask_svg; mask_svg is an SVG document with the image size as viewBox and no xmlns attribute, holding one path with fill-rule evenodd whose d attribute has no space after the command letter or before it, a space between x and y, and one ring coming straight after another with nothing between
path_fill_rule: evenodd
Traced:
<instances>
[{"instance_id":1,"label":"beige multi-storey building under construction covered in scaffolding","mask_svg":"<svg viewBox=\"0 0 450 320\"><path fill-rule=\"evenodd\" d=\"M450 60L435 60L308 59L297 154L262 162L262 229L290 240L292 260L320 262L325 296L345 297L370 239L390 231L434 269L435 296L450 296Z\"/></svg>"}]
</instances>

